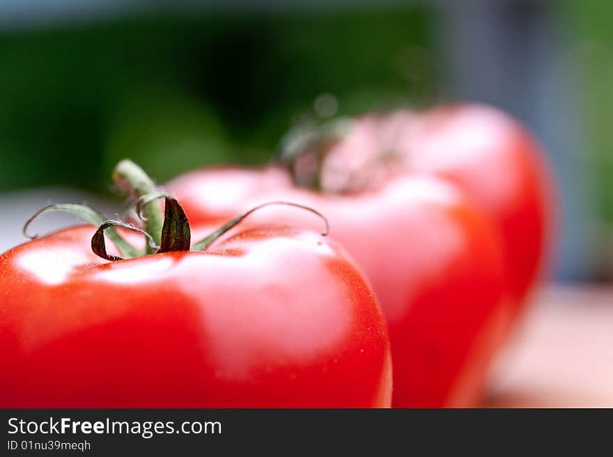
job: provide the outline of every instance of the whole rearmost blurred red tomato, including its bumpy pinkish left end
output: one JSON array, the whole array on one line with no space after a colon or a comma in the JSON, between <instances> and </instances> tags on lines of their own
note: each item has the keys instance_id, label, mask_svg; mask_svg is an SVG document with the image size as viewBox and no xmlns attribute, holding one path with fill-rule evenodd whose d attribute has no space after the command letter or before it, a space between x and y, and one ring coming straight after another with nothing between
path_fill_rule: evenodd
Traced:
<instances>
[{"instance_id":1,"label":"whole rearmost blurred red tomato, including its bumpy pinkish left end","mask_svg":"<svg viewBox=\"0 0 613 457\"><path fill-rule=\"evenodd\" d=\"M518 121L477 104L369 113L323 155L325 191L359 191L391 172L456 184L501 233L513 313L522 310L551 243L554 198L540 147Z\"/></svg>"}]
</instances>

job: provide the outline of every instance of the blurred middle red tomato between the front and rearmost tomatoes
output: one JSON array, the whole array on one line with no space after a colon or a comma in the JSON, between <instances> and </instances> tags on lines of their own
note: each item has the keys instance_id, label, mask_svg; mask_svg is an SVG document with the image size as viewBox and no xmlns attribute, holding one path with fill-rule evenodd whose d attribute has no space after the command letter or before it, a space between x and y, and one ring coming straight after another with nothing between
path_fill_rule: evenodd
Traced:
<instances>
[{"instance_id":1,"label":"blurred middle red tomato between the front and rearmost tomatoes","mask_svg":"<svg viewBox=\"0 0 613 457\"><path fill-rule=\"evenodd\" d=\"M270 200L318 209L330 236L362 267L385 312L394 363L393 406L474 406L509 312L497 233L453 186L400 176L350 195L297 189L280 168L189 173L169 191L194 222ZM302 211L255 219L313 223ZM312 294L309 284L301 284ZM317 286L313 286L317 289Z\"/></svg>"}]
</instances>

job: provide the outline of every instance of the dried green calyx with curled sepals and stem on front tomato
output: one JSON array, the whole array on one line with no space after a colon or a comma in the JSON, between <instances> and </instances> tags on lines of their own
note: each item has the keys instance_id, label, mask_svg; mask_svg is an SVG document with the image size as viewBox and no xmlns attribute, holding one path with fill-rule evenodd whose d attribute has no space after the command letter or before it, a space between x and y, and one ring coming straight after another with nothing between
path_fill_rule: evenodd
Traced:
<instances>
[{"instance_id":1,"label":"dried green calyx with curled sepals and stem on front tomato","mask_svg":"<svg viewBox=\"0 0 613 457\"><path fill-rule=\"evenodd\" d=\"M123 160L116 166L113 178L115 184L119 189L127 191L130 199L134 202L134 212L137 214L143 227L137 227L130 223L125 223L120 220L107 219L104 215L91 207L86 205L77 205L72 203L61 203L56 205L49 205L36 211L31 218L29 218L23 227L23 233L30 239L38 238L38 234L29 235L29 225L41 214L49 211L65 211L70 214L74 214L84 221L98 227L91 238L91 249L95 255L102 257L103 259L111 262L118 260L130 259L134 257L141 257L143 255L159 254L162 252L173 251L204 251L220 236L231 230L235 225L241 223L247 216L258 211L258 209L270 206L270 205L285 205L290 207L296 207L310 211L320 218L325 223L325 231L321 234L327 235L329 232L329 223L327 218L323 216L319 211L311 207L299 205L293 202L265 202L254 208L249 209L245 213L237 216L230 221L224 223L217 230L213 231L205 238L191 245L192 230L189 226L187 215L181 207L180 203L169 193L160 191L153 184L146 173L137 166L136 163ZM157 204L157 200L164 199L164 215L162 216L162 209ZM123 228L138 232L145 237L145 247L143 249L132 246L116 228ZM110 255L107 252L106 242L104 236L107 236L116 246L117 250L121 254L121 257L116 255Z\"/></svg>"}]
</instances>

